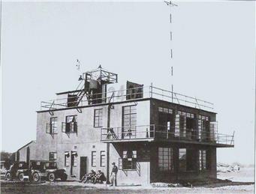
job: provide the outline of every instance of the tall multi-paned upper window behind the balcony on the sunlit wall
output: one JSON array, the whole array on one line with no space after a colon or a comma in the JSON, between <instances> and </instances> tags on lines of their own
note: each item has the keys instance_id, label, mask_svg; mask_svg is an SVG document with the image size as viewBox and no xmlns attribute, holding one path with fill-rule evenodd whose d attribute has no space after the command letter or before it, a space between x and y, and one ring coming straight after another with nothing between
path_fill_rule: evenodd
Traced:
<instances>
[{"instance_id":1,"label":"tall multi-paned upper window behind the balcony on the sunlit wall","mask_svg":"<svg viewBox=\"0 0 256 194\"><path fill-rule=\"evenodd\" d=\"M135 136L137 124L136 106L122 107L122 139Z\"/></svg>"}]
</instances>

